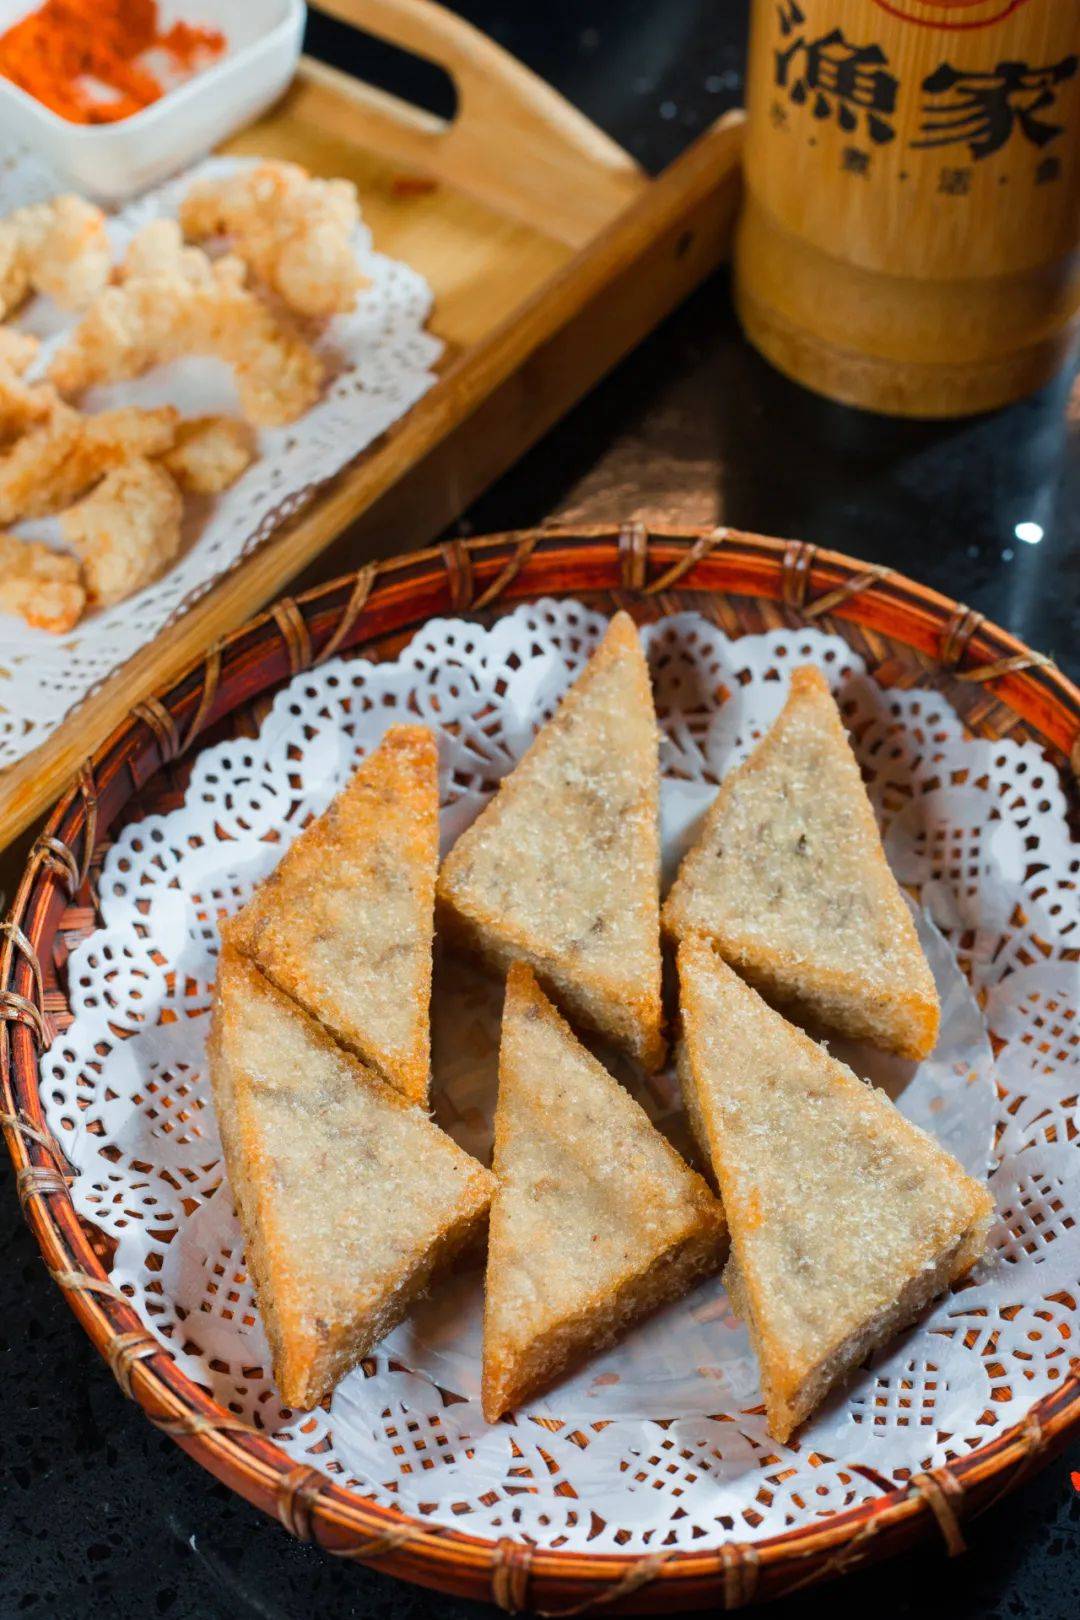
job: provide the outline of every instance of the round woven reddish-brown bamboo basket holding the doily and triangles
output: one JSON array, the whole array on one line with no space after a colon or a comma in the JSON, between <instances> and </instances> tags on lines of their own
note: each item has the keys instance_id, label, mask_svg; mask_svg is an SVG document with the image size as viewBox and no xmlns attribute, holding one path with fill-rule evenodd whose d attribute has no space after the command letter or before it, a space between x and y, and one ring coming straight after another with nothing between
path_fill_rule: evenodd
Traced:
<instances>
[{"instance_id":1,"label":"round woven reddish-brown bamboo basket holding the doily and triangles","mask_svg":"<svg viewBox=\"0 0 1080 1620\"><path fill-rule=\"evenodd\" d=\"M324 1552L403 1580L494 1601L515 1614L735 1609L785 1596L926 1536L963 1547L963 1524L1059 1452L1080 1427L1080 1359L1015 1427L933 1474L813 1526L758 1541L648 1557L538 1550L444 1529L361 1498L296 1466L183 1375L108 1280L108 1246L74 1213L66 1163L39 1097L39 1051L70 1019L65 962L94 927L96 876L110 833L180 804L183 755L251 735L274 690L335 653L395 656L432 614L491 622L541 595L628 608L649 620L683 609L729 635L818 622L887 687L942 690L984 737L1033 740L1075 787L1080 692L1054 664L970 609L884 567L800 541L733 530L536 530L369 564L283 598L219 642L170 687L136 705L84 763L31 850L0 940L3 1129L18 1194L50 1275L149 1421L287 1531Z\"/></svg>"}]
</instances>

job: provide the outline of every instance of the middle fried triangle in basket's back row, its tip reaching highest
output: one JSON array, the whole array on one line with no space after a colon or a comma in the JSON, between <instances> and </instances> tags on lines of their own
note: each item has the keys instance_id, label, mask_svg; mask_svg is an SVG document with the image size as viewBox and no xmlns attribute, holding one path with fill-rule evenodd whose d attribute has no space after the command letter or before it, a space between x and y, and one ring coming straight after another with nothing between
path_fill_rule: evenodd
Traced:
<instances>
[{"instance_id":1,"label":"middle fried triangle in basket's back row, its tip reaching highest","mask_svg":"<svg viewBox=\"0 0 1080 1620\"><path fill-rule=\"evenodd\" d=\"M528 961L589 1029L664 1059L657 731L638 633L617 614L439 875L440 922L495 972Z\"/></svg>"}]
</instances>

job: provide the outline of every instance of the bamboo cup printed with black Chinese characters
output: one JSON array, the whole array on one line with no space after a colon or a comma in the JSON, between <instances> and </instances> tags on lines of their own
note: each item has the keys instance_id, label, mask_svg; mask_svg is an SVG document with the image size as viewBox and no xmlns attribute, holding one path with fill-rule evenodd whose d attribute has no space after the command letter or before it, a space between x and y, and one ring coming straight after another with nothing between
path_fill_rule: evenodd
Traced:
<instances>
[{"instance_id":1,"label":"bamboo cup printed with black Chinese characters","mask_svg":"<svg viewBox=\"0 0 1080 1620\"><path fill-rule=\"evenodd\" d=\"M1080 0L755 0L735 301L831 399L960 416L1080 335Z\"/></svg>"}]
</instances>

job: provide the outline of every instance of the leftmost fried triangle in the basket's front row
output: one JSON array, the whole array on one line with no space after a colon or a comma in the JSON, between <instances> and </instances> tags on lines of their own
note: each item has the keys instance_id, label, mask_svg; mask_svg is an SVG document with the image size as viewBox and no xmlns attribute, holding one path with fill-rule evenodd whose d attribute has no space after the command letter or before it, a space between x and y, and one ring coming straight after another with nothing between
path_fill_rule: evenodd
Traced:
<instances>
[{"instance_id":1,"label":"leftmost fried triangle in the basket's front row","mask_svg":"<svg viewBox=\"0 0 1080 1620\"><path fill-rule=\"evenodd\" d=\"M228 944L209 1058L274 1375L308 1409L483 1231L494 1179Z\"/></svg>"}]
</instances>

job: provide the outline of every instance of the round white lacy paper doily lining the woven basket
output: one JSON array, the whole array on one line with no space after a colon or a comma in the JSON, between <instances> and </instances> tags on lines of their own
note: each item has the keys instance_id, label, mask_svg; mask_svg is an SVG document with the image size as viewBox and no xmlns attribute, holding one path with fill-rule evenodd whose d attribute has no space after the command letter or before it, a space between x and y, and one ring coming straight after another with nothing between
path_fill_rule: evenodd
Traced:
<instances>
[{"instance_id":1,"label":"round white lacy paper doily lining the woven basket","mask_svg":"<svg viewBox=\"0 0 1080 1620\"><path fill-rule=\"evenodd\" d=\"M604 622L572 601L518 608L491 630L432 620L397 663L338 659L298 676L256 739L207 748L185 805L125 828L107 857L102 927L70 957L74 1022L42 1059L42 1094L79 1170L78 1212L117 1241L113 1280L235 1413L296 1460L436 1523L635 1552L755 1539L852 1507L984 1443L1065 1375L1080 1330L1080 967L1065 956L1078 938L1078 863L1036 747L967 737L934 693L882 692L842 640L801 630L729 642L695 614L644 630L669 867L716 782L777 714L790 669L826 671L894 868L933 912L936 928L920 925L946 998L934 1058L915 1072L878 1059L874 1072L972 1168L993 1162L991 1252L790 1445L755 1411L755 1362L716 1281L489 1427L474 1398L478 1277L466 1272L345 1379L329 1411L285 1413L209 1103L219 919L397 718L440 735L452 841ZM483 1152L497 995L453 961L437 982L437 1118ZM636 1092L685 1145L670 1076Z\"/></svg>"}]
</instances>

